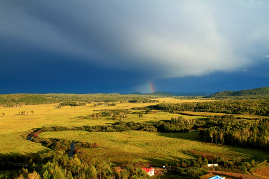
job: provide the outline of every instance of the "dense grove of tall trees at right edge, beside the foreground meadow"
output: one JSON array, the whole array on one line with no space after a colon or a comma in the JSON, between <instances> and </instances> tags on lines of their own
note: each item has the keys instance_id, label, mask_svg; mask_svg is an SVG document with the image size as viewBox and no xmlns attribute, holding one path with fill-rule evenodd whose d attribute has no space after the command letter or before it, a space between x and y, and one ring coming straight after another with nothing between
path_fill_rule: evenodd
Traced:
<instances>
[{"instance_id":1,"label":"dense grove of tall trees at right edge, beside the foreground meadow","mask_svg":"<svg viewBox=\"0 0 269 179\"><path fill-rule=\"evenodd\" d=\"M219 120L220 121L220 120ZM212 143L269 149L269 119L213 123L200 131L200 138Z\"/></svg>"}]
</instances>

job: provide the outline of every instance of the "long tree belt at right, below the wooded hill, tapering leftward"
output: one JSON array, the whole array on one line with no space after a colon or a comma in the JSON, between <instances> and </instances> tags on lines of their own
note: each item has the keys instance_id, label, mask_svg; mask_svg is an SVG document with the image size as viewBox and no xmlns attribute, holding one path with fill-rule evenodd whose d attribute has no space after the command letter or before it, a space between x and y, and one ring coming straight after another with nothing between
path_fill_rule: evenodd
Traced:
<instances>
[{"instance_id":1,"label":"long tree belt at right, below the wooded hill, tapering leftward","mask_svg":"<svg viewBox=\"0 0 269 179\"><path fill-rule=\"evenodd\" d=\"M166 111L218 112L269 116L269 99L221 100L188 103L161 103L148 106Z\"/></svg>"}]
</instances>

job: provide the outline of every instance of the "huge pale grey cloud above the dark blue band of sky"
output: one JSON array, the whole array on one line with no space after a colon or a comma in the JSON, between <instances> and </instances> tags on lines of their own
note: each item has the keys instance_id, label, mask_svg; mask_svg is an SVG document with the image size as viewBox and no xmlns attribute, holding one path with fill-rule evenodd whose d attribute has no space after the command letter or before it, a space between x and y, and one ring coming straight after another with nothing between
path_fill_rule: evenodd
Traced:
<instances>
[{"instance_id":1,"label":"huge pale grey cloud above the dark blue band of sky","mask_svg":"<svg viewBox=\"0 0 269 179\"><path fill-rule=\"evenodd\" d=\"M268 1L6 0L0 40L148 78L201 76L260 63L268 17Z\"/></svg>"}]
</instances>

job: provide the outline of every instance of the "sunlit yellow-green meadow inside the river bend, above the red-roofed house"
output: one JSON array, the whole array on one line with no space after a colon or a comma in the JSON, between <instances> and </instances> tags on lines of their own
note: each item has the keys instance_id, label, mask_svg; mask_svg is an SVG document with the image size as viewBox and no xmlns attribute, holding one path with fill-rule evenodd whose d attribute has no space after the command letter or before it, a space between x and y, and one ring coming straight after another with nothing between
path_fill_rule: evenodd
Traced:
<instances>
[{"instance_id":1,"label":"sunlit yellow-green meadow inside the river bend, above the red-roofed house","mask_svg":"<svg viewBox=\"0 0 269 179\"><path fill-rule=\"evenodd\" d=\"M206 152L229 159L242 158L267 159L268 153L262 150L231 147L200 142L199 131L189 133L154 133L145 131L131 132L86 132L61 131L40 133L42 138L64 138L97 143L100 148L85 149L97 159L110 158L112 162L124 163L150 162L162 165L174 164L179 158L193 159L191 151ZM188 153L186 153L188 152Z\"/></svg>"}]
</instances>

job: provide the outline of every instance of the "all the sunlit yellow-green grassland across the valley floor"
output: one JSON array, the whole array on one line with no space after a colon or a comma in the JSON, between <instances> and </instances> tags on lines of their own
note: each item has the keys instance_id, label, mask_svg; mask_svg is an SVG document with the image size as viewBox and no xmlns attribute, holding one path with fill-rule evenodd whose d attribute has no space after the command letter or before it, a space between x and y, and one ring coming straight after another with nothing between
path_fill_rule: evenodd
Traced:
<instances>
[{"instance_id":1,"label":"all the sunlit yellow-green grassland across the valley floor","mask_svg":"<svg viewBox=\"0 0 269 179\"><path fill-rule=\"evenodd\" d=\"M199 99L174 99L160 98L160 102L197 102ZM1 155L33 155L45 152L48 148L41 144L25 140L21 135L33 128L42 126L83 126L83 125L108 125L116 122L112 117L102 119L81 119L77 116L87 116L104 109L128 109L143 107L152 103L117 103L116 106L93 107L95 103L71 108L64 106L56 108L58 104L25 105L22 107L6 108L0 106L0 154ZM33 115L19 115L21 111L34 111ZM95 111L97 110L97 111ZM4 113L5 115L1 115ZM144 114L139 119L136 114L129 114L125 121L156 122L162 119L180 116L168 112ZM185 118L201 118L200 116L186 116ZM250 116L251 117L251 116ZM253 116L252 116L253 117ZM150 132L104 132L90 133L86 131L65 131L41 133L42 137L65 138L69 140L82 140L98 143L101 148L89 149L98 158L109 157L114 162L142 161L163 163L164 161L176 162L178 158L192 158L185 154L186 151L197 150L224 156L241 155L244 158L268 159L269 154L260 150L244 149L231 146L215 145L198 141L198 132L193 133L150 133Z\"/></svg>"}]
</instances>

